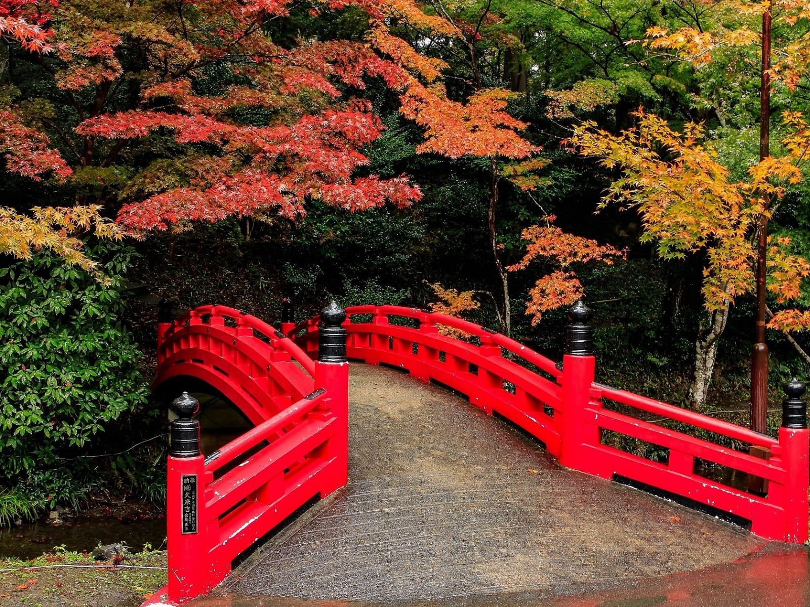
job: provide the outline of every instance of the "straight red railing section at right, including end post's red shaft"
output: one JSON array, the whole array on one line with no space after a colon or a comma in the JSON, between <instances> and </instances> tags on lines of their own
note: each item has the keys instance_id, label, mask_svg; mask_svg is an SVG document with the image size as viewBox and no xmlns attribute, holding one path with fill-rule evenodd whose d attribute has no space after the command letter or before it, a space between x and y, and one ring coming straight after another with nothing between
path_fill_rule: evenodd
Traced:
<instances>
[{"instance_id":1,"label":"straight red railing section at right, including end post's red shaft","mask_svg":"<svg viewBox=\"0 0 810 607\"><path fill-rule=\"evenodd\" d=\"M664 461L650 461L606 444L583 443L580 466L583 472L599 477L624 477L685 498L705 503L752 522L752 532L770 539L803 543L808 536L807 430L781 428L774 439L746 428L661 403L644 396L607 386L595 385L602 403L625 405L635 415L609 410L603 404L590 404L584 413L588 423L602 432L609 431L650 443L664 451ZM799 401L800 402L800 401ZM678 421L695 430L720 438L764 447L765 460L727 444L718 444L671 430L641 419L654 413ZM798 451L797 451L798 448ZM800 451L804 451L801 453ZM787 455L787 458L786 458ZM798 457L797 457L798 455ZM697 474L696 464L715 464L768 481L767 494L757 494ZM804 485L804 487L802 486ZM803 498L803 496L805 496Z\"/></svg>"}]
</instances>

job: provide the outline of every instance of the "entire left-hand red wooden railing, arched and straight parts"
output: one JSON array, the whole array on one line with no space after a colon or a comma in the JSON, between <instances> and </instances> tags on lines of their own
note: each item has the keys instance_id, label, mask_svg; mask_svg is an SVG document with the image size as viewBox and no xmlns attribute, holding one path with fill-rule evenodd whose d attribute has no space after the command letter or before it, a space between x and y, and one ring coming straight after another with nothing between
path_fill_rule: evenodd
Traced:
<instances>
[{"instance_id":1,"label":"entire left-hand red wooden railing, arched and straight parts","mask_svg":"<svg viewBox=\"0 0 810 607\"><path fill-rule=\"evenodd\" d=\"M168 458L168 584L144 605L177 605L214 588L239 554L310 499L346 484L348 367L312 361L274 328L224 306L160 323L158 334L154 387L203 379L255 424L203 459L196 447L177 446L198 444L196 401L184 395L192 410L175 407L181 419Z\"/></svg>"}]
</instances>

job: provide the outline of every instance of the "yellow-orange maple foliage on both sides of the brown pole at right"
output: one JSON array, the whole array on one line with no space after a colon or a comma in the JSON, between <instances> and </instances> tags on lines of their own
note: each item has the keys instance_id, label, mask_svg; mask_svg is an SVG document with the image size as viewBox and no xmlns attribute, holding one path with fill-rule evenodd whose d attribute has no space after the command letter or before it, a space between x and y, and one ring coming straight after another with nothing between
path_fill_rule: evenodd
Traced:
<instances>
[{"instance_id":1,"label":"yellow-orange maple foliage on both sides of the brown pole at right","mask_svg":"<svg viewBox=\"0 0 810 607\"><path fill-rule=\"evenodd\" d=\"M637 113L637 126L620 135L585 122L574 129L569 145L601 159L608 169L620 169L603 204L636 208L645 226L642 241L655 242L661 257L706 253L703 296L709 310L721 310L753 288L751 234L757 219L770 217L773 203L803 178L799 165L810 139L795 114L788 114L787 122L792 126L785 140L790 153L750 167L744 182L733 181L718 162L703 126L689 122L677 131L643 110ZM799 297L801 280L810 276L810 265L791 254L789 245L789 238L770 240L768 289L780 302ZM798 328L800 318L779 312L769 326Z\"/></svg>"}]
</instances>

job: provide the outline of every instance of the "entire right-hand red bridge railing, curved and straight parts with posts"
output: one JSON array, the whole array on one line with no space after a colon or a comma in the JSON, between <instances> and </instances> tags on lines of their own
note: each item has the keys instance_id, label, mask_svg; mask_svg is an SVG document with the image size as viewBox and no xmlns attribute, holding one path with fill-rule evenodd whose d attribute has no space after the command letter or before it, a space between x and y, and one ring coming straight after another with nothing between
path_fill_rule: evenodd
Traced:
<instances>
[{"instance_id":1,"label":"entire right-hand red bridge railing, curved and straight parts with posts","mask_svg":"<svg viewBox=\"0 0 810 607\"><path fill-rule=\"evenodd\" d=\"M634 481L693 506L727 512L750 521L752 532L769 539L808 539L810 438L800 385L788 388L791 398L783 407L782 428L772 438L595 383L590 310L582 302L570 314L561 367L517 341L459 318L401 306L354 306L347 314L343 326L350 358L396 366L463 393L472 404L544 442L568 468ZM310 356L318 351L318 322L316 317L285 327ZM440 327L462 331L462 339L442 335ZM663 419L650 421L655 416ZM677 422L684 431L661 421ZM622 437L648 443L664 455L663 461L623 450ZM733 448L740 443L761 447L770 459ZM766 494L706 477L702 467L713 464L764 479Z\"/></svg>"}]
</instances>

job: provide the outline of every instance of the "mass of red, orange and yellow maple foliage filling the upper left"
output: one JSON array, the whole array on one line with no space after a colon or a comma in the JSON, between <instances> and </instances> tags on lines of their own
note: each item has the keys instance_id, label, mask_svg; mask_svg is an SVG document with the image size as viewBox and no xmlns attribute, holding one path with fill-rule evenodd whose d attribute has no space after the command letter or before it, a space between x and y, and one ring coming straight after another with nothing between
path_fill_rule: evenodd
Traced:
<instances>
[{"instance_id":1,"label":"mass of red, orange and yellow maple foliage filling the upper left","mask_svg":"<svg viewBox=\"0 0 810 607\"><path fill-rule=\"evenodd\" d=\"M134 234L182 230L195 220L230 215L294 219L305 214L309 200L351 210L386 201L407 206L421 196L407 177L358 175L369 164L363 148L383 127L369 103L349 91L376 78L404 94L420 88L420 77L439 76L443 62L422 57L392 36L386 19L449 34L455 28L404 0L311 2L310 13L347 7L368 14L366 41L291 46L276 44L265 30L291 8L300 9L287 0L181 2L177 11L165 11L160 2L112 10L70 0L54 0L44 11L37 2L2 0L0 35L38 56L53 86L70 99L76 121L72 127L57 124L44 104L32 115L12 92L0 106L6 169L62 182L75 178L77 170L85 181L95 176L102 195L93 200L79 194L77 204L97 205L98 221L117 216ZM198 83L214 66L230 71L232 82L203 91ZM132 84L138 95L127 108L121 92ZM420 99L439 104L441 94ZM237 118L248 109L264 113L265 124ZM428 112L424 105L411 110L420 117ZM53 147L54 134L73 160ZM131 156L153 148L167 135L176 144L168 155L142 167L126 186L110 186L109 173L126 162L122 152ZM4 217L12 216L13 222L3 220L5 232L22 230L5 246L13 254L25 256L26 247L50 246L64 237L58 230L45 239L28 233L19 216ZM77 250L74 242L63 243L66 248Z\"/></svg>"}]
</instances>

